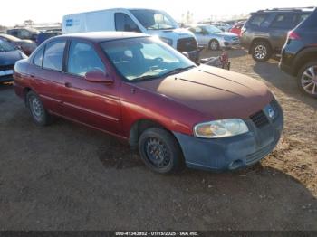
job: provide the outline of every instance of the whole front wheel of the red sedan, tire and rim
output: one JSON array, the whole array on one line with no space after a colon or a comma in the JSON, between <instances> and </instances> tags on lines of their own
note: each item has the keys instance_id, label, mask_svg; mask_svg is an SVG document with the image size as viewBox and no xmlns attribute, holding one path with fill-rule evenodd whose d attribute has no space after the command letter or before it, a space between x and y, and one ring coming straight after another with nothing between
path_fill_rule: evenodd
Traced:
<instances>
[{"instance_id":1,"label":"whole front wheel of the red sedan, tire and rim","mask_svg":"<svg viewBox=\"0 0 317 237\"><path fill-rule=\"evenodd\" d=\"M162 128L148 128L141 134L139 154L150 170L160 174L175 173L184 167L178 141Z\"/></svg>"}]
</instances>

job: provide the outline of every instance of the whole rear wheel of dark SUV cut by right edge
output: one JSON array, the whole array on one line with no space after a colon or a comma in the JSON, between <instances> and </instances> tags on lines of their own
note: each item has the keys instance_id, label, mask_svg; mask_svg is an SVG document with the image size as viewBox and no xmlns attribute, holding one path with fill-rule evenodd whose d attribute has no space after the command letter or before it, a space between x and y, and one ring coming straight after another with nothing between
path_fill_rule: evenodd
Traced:
<instances>
[{"instance_id":1,"label":"whole rear wheel of dark SUV cut by right edge","mask_svg":"<svg viewBox=\"0 0 317 237\"><path fill-rule=\"evenodd\" d=\"M297 75L297 85L304 94L317 99L317 61L303 65Z\"/></svg>"}]
</instances>

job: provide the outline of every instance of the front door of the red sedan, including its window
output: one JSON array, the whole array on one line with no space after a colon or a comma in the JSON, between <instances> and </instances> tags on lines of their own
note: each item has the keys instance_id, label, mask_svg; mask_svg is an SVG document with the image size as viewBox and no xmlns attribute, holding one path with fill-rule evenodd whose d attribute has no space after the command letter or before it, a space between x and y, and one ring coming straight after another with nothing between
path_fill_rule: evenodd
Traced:
<instances>
[{"instance_id":1,"label":"front door of the red sedan, including its window","mask_svg":"<svg viewBox=\"0 0 317 237\"><path fill-rule=\"evenodd\" d=\"M88 71L107 72L95 45L72 40L68 44L63 74L62 115L110 133L120 129L120 81L107 84L86 81ZM111 75L109 74L111 77Z\"/></svg>"}]
</instances>

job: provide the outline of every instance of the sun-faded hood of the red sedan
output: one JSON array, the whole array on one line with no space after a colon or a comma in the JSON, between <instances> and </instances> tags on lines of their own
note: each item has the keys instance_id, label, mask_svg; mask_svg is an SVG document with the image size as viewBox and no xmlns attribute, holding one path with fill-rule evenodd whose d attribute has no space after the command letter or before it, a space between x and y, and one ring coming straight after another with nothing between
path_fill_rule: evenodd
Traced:
<instances>
[{"instance_id":1,"label":"sun-faded hood of the red sedan","mask_svg":"<svg viewBox=\"0 0 317 237\"><path fill-rule=\"evenodd\" d=\"M247 119L273 100L263 82L206 65L137 84L144 90L195 109L207 119Z\"/></svg>"}]
</instances>

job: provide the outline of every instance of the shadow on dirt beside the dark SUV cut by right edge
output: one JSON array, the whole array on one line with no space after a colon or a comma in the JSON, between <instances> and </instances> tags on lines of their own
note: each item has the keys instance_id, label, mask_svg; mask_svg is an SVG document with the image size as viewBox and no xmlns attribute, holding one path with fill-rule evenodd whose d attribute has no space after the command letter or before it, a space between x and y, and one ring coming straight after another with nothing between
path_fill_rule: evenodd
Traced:
<instances>
[{"instance_id":1,"label":"shadow on dirt beside the dark SUV cut by right edge","mask_svg":"<svg viewBox=\"0 0 317 237\"><path fill-rule=\"evenodd\" d=\"M262 79L270 82L285 94L292 96L297 100L301 100L312 108L317 109L316 100L304 95L298 89L296 79L281 71L278 67L278 61L270 60L269 62L255 62L253 69Z\"/></svg>"}]
</instances>

